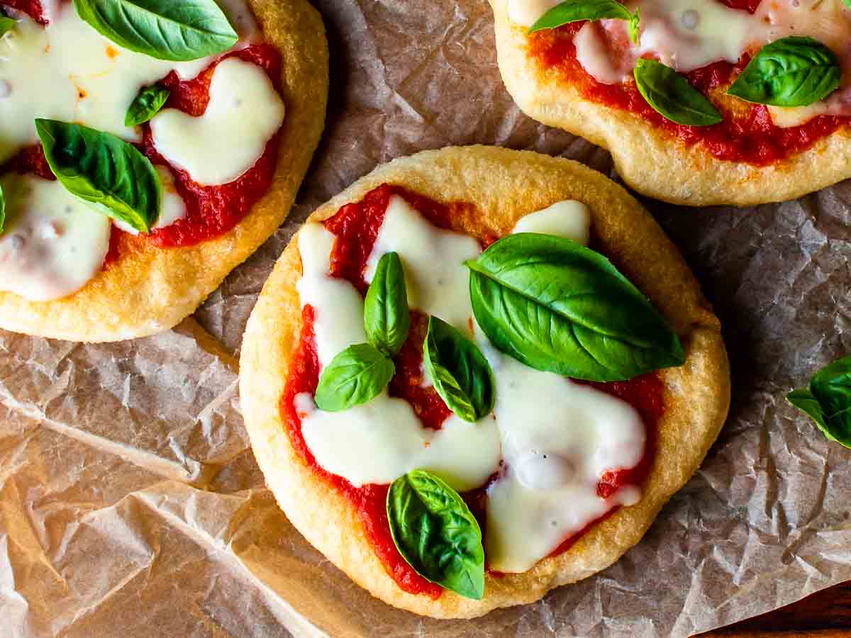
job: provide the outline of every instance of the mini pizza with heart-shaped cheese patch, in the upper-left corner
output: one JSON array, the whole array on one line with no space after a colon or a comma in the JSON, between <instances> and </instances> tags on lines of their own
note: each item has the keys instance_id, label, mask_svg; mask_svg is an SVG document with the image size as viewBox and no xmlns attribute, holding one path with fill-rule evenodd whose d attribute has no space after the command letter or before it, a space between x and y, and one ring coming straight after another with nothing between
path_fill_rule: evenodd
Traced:
<instances>
[{"instance_id":1,"label":"mini pizza with heart-shaped cheese patch, in the upper-left corner","mask_svg":"<svg viewBox=\"0 0 851 638\"><path fill-rule=\"evenodd\" d=\"M324 125L321 18L306 0L0 8L0 328L171 328L292 206Z\"/></svg>"}]
</instances>

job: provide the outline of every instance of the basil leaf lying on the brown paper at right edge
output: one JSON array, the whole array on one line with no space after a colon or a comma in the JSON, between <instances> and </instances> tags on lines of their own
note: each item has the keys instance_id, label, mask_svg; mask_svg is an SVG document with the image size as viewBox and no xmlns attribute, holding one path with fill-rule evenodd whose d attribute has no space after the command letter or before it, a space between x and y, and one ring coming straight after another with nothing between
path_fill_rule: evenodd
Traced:
<instances>
[{"instance_id":1,"label":"basil leaf lying on the brown paper at right edge","mask_svg":"<svg viewBox=\"0 0 851 638\"><path fill-rule=\"evenodd\" d=\"M812 417L831 441L851 447L851 356L823 367L808 387L790 392L786 400Z\"/></svg>"}]
</instances>

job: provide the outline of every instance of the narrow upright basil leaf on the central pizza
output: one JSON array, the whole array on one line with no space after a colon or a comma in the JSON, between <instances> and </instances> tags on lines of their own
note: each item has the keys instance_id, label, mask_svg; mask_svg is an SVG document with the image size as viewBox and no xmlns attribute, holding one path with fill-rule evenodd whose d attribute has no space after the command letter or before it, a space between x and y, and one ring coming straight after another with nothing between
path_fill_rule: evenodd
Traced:
<instances>
[{"instance_id":1,"label":"narrow upright basil leaf on the central pizza","mask_svg":"<svg viewBox=\"0 0 851 638\"><path fill-rule=\"evenodd\" d=\"M363 305L363 327L369 343L394 356L408 339L408 291L397 253L386 253L375 268Z\"/></svg>"}]
</instances>

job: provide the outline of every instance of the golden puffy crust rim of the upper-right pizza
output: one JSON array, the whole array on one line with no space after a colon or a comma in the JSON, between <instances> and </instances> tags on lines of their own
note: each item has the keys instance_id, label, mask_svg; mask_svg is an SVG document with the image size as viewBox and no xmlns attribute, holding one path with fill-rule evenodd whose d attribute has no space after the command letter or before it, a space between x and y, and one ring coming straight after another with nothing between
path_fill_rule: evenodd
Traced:
<instances>
[{"instance_id":1,"label":"golden puffy crust rim of the upper-right pizza","mask_svg":"<svg viewBox=\"0 0 851 638\"><path fill-rule=\"evenodd\" d=\"M508 18L507 0L490 0L505 88L529 117L607 148L636 191L685 206L784 202L851 177L851 130L841 128L807 151L768 166L727 162L686 145L642 117L585 100L527 53L527 30Z\"/></svg>"}]
</instances>

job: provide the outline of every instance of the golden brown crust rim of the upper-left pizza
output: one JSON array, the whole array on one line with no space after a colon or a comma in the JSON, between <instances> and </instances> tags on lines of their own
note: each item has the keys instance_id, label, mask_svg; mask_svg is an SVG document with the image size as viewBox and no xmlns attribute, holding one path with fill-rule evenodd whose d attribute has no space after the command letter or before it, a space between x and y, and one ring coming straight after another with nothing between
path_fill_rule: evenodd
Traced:
<instances>
[{"instance_id":1,"label":"golden brown crust rim of the upper-left pizza","mask_svg":"<svg viewBox=\"0 0 851 638\"><path fill-rule=\"evenodd\" d=\"M283 54L287 114L271 189L224 236L188 248L140 242L78 293L45 303L0 293L0 328L54 339L117 341L172 328L283 223L319 143L328 100L328 43L307 0L247 0Z\"/></svg>"}]
</instances>

